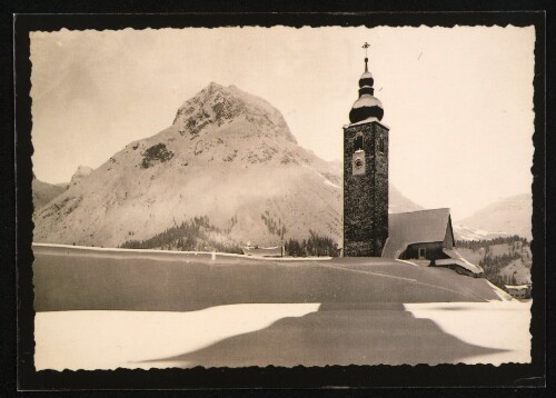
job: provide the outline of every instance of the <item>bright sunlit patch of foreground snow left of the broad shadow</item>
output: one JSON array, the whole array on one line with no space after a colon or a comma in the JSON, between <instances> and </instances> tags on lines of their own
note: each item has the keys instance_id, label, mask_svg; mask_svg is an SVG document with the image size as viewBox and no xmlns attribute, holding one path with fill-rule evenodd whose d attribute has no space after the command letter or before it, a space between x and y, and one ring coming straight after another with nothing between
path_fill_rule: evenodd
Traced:
<instances>
[{"instance_id":1,"label":"bright sunlit patch of foreground snow left of the broad shadow","mask_svg":"<svg viewBox=\"0 0 556 398\"><path fill-rule=\"evenodd\" d=\"M191 352L318 308L318 304L251 304L188 312L38 312L34 366L37 370L171 367L149 360Z\"/></svg>"}]
</instances>

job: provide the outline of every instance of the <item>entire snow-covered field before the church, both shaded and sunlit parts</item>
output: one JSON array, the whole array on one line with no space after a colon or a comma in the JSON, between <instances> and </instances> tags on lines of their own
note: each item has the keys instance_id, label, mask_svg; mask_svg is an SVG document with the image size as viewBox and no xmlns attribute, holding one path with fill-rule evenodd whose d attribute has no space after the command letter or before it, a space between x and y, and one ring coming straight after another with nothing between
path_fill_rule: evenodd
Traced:
<instances>
[{"instance_id":1,"label":"entire snow-covered field before the church, both shaded and sunlit parts","mask_svg":"<svg viewBox=\"0 0 556 398\"><path fill-rule=\"evenodd\" d=\"M530 302L380 258L33 246L37 369L530 361Z\"/></svg>"}]
</instances>

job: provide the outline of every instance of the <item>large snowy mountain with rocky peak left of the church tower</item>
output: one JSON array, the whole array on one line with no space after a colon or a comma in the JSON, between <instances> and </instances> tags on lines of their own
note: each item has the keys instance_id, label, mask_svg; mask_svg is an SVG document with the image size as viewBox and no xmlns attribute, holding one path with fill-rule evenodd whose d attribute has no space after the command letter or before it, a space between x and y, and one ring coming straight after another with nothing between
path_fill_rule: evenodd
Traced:
<instances>
[{"instance_id":1,"label":"large snowy mountain with rocky peak left of the church tower","mask_svg":"<svg viewBox=\"0 0 556 398\"><path fill-rule=\"evenodd\" d=\"M173 123L129 143L86 179L72 179L34 217L34 240L119 246L192 217L259 245L309 229L339 240L340 176L299 147L278 110L238 88L210 83ZM266 220L265 220L266 219Z\"/></svg>"}]
</instances>

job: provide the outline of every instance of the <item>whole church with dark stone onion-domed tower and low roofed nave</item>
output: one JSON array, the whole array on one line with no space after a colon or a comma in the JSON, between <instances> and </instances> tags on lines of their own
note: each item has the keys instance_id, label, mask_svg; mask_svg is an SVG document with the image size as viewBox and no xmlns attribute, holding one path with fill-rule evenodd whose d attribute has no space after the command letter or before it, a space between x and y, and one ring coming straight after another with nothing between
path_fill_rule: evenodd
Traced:
<instances>
[{"instance_id":1,"label":"whole church with dark stone onion-domed tower and low roofed nave","mask_svg":"<svg viewBox=\"0 0 556 398\"><path fill-rule=\"evenodd\" d=\"M455 250L449 209L388 213L390 129L368 62L366 53L359 96L344 126L344 257L415 259L480 275Z\"/></svg>"}]
</instances>

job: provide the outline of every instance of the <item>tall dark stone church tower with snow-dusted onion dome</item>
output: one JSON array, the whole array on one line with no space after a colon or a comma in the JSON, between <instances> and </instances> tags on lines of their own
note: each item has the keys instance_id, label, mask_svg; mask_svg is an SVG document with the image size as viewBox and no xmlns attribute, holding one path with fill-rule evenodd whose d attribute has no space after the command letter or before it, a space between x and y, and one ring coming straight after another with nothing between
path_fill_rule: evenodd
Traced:
<instances>
[{"instance_id":1,"label":"tall dark stone church tower with snow-dusted onion dome","mask_svg":"<svg viewBox=\"0 0 556 398\"><path fill-rule=\"evenodd\" d=\"M365 56L359 98L344 127L345 257L380 257L388 238L388 128Z\"/></svg>"}]
</instances>

